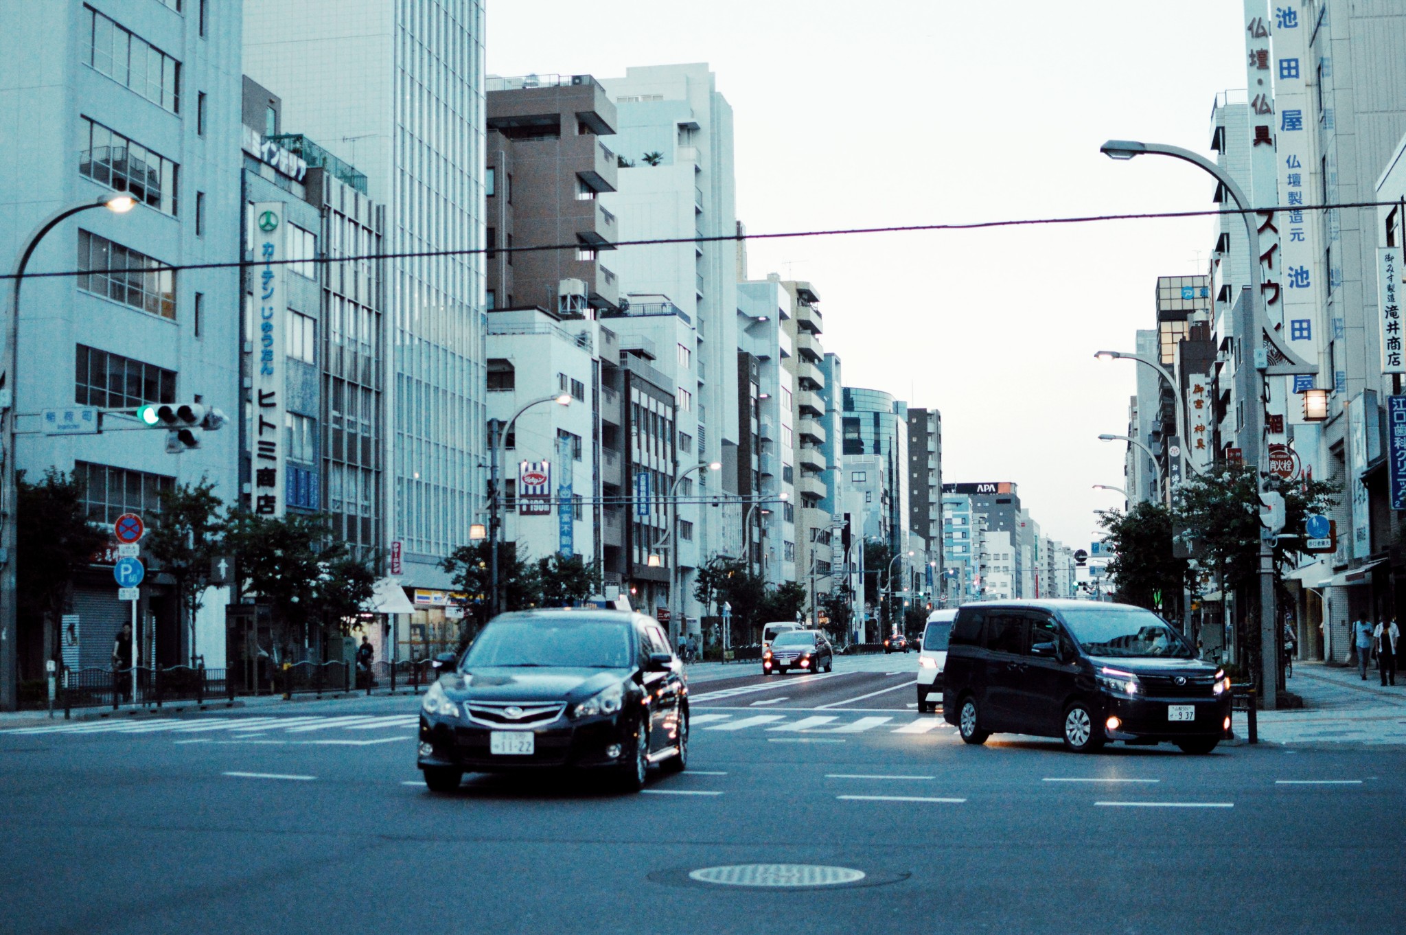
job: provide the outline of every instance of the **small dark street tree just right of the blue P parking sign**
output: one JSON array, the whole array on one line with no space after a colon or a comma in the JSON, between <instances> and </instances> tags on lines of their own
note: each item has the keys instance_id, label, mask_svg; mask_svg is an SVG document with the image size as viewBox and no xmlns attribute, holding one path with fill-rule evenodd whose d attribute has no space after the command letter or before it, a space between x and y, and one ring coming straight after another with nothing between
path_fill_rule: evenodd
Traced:
<instances>
[{"instance_id":1,"label":"small dark street tree just right of the blue P parking sign","mask_svg":"<svg viewBox=\"0 0 1406 935\"><path fill-rule=\"evenodd\" d=\"M145 548L160 562L160 571L176 582L176 606L190 631L190 664L195 665L195 614L205 603L209 564L221 554L225 540L222 502L215 485L177 484L159 494L160 510L152 516Z\"/></svg>"}]
</instances>

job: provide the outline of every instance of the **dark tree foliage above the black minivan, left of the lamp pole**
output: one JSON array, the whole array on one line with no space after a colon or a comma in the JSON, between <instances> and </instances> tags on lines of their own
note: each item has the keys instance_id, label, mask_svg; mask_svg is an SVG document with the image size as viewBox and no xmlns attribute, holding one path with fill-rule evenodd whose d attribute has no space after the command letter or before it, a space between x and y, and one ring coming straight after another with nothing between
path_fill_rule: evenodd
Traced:
<instances>
[{"instance_id":1,"label":"dark tree foliage above the black minivan, left of the lamp pole","mask_svg":"<svg viewBox=\"0 0 1406 935\"><path fill-rule=\"evenodd\" d=\"M1104 541L1114 553L1108 575L1118 588L1116 599L1180 617L1182 588L1195 591L1198 582L1191 562L1173 554L1171 510L1163 503L1142 502L1126 513L1099 510L1098 524L1107 530Z\"/></svg>"}]
</instances>

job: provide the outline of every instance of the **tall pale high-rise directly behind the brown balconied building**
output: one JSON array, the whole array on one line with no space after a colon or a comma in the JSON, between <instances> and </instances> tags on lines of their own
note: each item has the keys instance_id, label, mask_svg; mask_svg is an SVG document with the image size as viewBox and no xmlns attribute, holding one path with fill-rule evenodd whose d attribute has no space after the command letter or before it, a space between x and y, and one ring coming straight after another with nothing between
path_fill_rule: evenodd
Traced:
<instances>
[{"instance_id":1,"label":"tall pale high-rise directly behind the brown balconied building","mask_svg":"<svg viewBox=\"0 0 1406 935\"><path fill-rule=\"evenodd\" d=\"M616 104L612 148L621 160L619 190L602 193L600 200L619 219L620 239L685 239L620 250L612 256L613 269L631 294L645 302L672 302L693 325L693 346L686 349L690 364L679 370L676 391L679 429L695 444L693 451L681 451L681 470L721 463L720 475L695 475L697 488L734 498L733 508L707 508L699 515L695 564L682 569L683 599L693 614L696 562L714 554L735 555L742 547L735 508L733 108L706 65L630 67L624 77L599 80ZM695 236L727 239L686 240ZM673 344L666 347L672 353Z\"/></svg>"}]
</instances>

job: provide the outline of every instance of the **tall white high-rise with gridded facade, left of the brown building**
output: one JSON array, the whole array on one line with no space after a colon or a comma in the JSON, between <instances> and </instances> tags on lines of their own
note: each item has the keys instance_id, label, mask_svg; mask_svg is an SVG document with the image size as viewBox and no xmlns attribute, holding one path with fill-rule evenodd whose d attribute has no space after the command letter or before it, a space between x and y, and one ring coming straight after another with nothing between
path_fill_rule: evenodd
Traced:
<instances>
[{"instance_id":1,"label":"tall white high-rise with gridded facade, left of the brown building","mask_svg":"<svg viewBox=\"0 0 1406 935\"><path fill-rule=\"evenodd\" d=\"M284 118L356 165L396 254L485 245L482 0L245 0L245 72ZM404 582L485 522L486 370L479 253L387 262L388 541Z\"/></svg>"}]
</instances>

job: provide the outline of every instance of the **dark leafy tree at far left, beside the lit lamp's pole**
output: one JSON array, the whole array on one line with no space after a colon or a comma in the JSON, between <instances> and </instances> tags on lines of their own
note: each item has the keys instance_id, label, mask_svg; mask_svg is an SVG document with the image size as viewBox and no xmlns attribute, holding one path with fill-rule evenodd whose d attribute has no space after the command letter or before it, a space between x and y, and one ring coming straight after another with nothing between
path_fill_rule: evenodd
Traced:
<instances>
[{"instance_id":1,"label":"dark leafy tree at far left, beside the lit lamp's pole","mask_svg":"<svg viewBox=\"0 0 1406 935\"><path fill-rule=\"evenodd\" d=\"M24 471L18 486L15 526L15 598L20 626L44 634L44 654L59 658L59 617L75 574L107 544L107 534L87 522L83 486L72 475L49 468L31 484Z\"/></svg>"}]
</instances>

